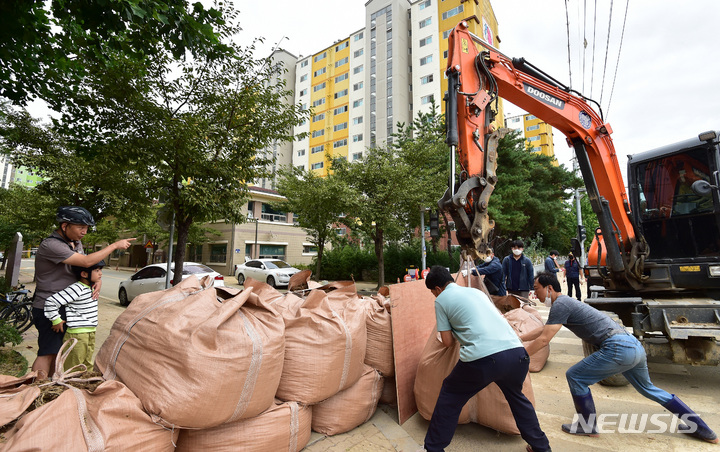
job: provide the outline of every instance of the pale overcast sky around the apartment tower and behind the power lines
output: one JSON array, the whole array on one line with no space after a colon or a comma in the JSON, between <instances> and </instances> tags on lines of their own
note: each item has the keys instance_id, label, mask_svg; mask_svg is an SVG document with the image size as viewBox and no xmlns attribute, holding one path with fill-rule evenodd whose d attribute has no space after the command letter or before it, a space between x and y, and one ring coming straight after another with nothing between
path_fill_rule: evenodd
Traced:
<instances>
[{"instance_id":1,"label":"pale overcast sky around the apartment tower and behind the power lines","mask_svg":"<svg viewBox=\"0 0 720 452\"><path fill-rule=\"evenodd\" d=\"M273 11L282 13L268 16L265 3L236 2L243 27L241 39L263 36L267 51L282 39L280 46L295 56L311 55L364 27L365 3L275 0ZM720 105L720 59L716 55L719 1L568 0L567 4L568 20L561 0L495 0L499 48L510 57L524 57L588 97L600 101L602 94L605 120L613 129L623 171L628 154L720 129L720 115L715 110ZM583 37L588 41L584 56L580 45ZM509 102L505 102L505 109L506 114L522 112ZM572 152L565 137L556 131L554 143L558 160L570 167Z\"/></svg>"}]
</instances>

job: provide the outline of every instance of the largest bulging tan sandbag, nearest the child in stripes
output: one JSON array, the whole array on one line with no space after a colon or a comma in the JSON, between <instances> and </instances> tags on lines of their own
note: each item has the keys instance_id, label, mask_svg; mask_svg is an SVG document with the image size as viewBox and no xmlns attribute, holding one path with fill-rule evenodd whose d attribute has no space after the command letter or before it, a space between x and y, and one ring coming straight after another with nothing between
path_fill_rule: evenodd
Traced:
<instances>
[{"instance_id":1,"label":"largest bulging tan sandbag, nearest the child in stripes","mask_svg":"<svg viewBox=\"0 0 720 452\"><path fill-rule=\"evenodd\" d=\"M95 360L106 379L125 383L169 426L208 428L257 416L273 404L280 381L282 318L252 289L212 284L190 276L140 295Z\"/></svg>"}]
</instances>

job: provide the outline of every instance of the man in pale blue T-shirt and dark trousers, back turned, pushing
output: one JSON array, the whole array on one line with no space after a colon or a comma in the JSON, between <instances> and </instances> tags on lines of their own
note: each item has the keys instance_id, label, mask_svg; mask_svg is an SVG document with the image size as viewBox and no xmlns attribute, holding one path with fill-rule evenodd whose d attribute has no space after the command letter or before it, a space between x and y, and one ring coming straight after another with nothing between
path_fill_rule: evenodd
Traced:
<instances>
[{"instance_id":1,"label":"man in pale blue T-shirt and dark trousers, back turned, pushing","mask_svg":"<svg viewBox=\"0 0 720 452\"><path fill-rule=\"evenodd\" d=\"M425 450L442 451L455 434L463 406L490 383L498 385L510 406L527 450L548 451L550 443L530 401L522 393L530 358L510 324L481 291L454 283L435 265L425 278L435 295L435 319L442 343L460 343L460 360L443 381L425 436Z\"/></svg>"}]
</instances>

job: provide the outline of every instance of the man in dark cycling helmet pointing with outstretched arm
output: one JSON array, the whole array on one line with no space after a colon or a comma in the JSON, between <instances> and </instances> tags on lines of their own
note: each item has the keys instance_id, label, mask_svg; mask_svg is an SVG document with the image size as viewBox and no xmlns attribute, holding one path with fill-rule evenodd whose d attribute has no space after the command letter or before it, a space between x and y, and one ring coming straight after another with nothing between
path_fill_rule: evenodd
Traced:
<instances>
[{"instance_id":1,"label":"man in dark cycling helmet pointing with outstretched arm","mask_svg":"<svg viewBox=\"0 0 720 452\"><path fill-rule=\"evenodd\" d=\"M33 299L33 324L38 330L38 357L32 370L40 379L47 378L55 367L55 357L63 343L63 333L55 332L52 323L45 317L45 300L77 281L71 266L91 267L106 259L115 250L126 250L134 238L117 242L92 254L84 254L82 238L89 226L95 226L90 212L83 207L64 206L58 208L58 228L40 243L35 255L35 297ZM100 284L93 286L93 297L97 298Z\"/></svg>"}]
</instances>

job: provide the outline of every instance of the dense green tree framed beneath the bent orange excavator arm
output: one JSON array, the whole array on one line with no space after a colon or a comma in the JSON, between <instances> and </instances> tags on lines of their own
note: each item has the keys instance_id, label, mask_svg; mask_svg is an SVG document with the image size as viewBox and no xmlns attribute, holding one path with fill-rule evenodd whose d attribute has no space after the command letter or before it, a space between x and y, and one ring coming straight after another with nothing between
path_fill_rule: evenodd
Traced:
<instances>
[{"instance_id":1,"label":"dense green tree framed beneath the bent orange excavator arm","mask_svg":"<svg viewBox=\"0 0 720 452\"><path fill-rule=\"evenodd\" d=\"M488 210L499 237L535 237L548 248L567 249L575 228L569 199L582 180L548 156L529 152L517 131L498 145L498 182Z\"/></svg>"}]
</instances>

